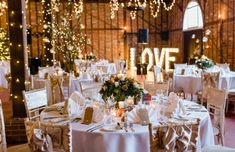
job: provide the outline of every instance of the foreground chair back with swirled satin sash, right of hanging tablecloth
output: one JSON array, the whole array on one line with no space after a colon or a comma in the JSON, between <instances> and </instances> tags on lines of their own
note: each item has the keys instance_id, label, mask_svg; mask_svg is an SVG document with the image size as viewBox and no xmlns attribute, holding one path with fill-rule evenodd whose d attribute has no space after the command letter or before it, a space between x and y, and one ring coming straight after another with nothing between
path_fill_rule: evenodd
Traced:
<instances>
[{"instance_id":1,"label":"foreground chair back with swirled satin sash, right of hanging tablecloth","mask_svg":"<svg viewBox=\"0 0 235 152\"><path fill-rule=\"evenodd\" d=\"M198 151L199 124L199 119L158 125L155 128L150 123L148 126L150 151Z\"/></svg>"}]
</instances>

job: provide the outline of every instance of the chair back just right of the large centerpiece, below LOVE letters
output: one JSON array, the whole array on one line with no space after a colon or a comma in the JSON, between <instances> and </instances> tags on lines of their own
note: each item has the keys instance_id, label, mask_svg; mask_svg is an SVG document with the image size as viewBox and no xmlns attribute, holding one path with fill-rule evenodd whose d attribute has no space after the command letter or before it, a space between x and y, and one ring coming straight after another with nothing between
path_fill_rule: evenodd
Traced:
<instances>
[{"instance_id":1,"label":"chair back just right of the large centerpiece, below LOVE letters","mask_svg":"<svg viewBox=\"0 0 235 152\"><path fill-rule=\"evenodd\" d=\"M162 91L168 95L169 82L144 81L144 89L151 95L156 95L156 91Z\"/></svg>"}]
</instances>

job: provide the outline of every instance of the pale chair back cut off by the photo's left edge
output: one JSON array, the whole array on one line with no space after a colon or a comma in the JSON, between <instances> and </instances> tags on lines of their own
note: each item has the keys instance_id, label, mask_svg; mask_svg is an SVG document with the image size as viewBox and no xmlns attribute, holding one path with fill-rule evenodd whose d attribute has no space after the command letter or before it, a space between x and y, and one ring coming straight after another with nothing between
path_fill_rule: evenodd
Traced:
<instances>
[{"instance_id":1,"label":"pale chair back cut off by the photo's left edge","mask_svg":"<svg viewBox=\"0 0 235 152\"><path fill-rule=\"evenodd\" d=\"M5 123L4 116L2 110L2 101L0 100L0 151L7 151L7 143L6 143L6 134L5 134Z\"/></svg>"}]
</instances>

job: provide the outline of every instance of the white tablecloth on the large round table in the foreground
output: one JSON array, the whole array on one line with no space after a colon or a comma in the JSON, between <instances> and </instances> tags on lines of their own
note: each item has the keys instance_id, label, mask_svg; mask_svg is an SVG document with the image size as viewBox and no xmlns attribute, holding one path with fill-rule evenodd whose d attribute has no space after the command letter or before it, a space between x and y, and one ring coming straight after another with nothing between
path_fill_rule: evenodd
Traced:
<instances>
[{"instance_id":1,"label":"white tablecloth on the large round table in the foreground","mask_svg":"<svg viewBox=\"0 0 235 152\"><path fill-rule=\"evenodd\" d=\"M195 104L185 101L185 105ZM208 112L190 112L192 118L200 118L200 142L201 146L214 145L214 135ZM42 112L41 120L46 117L61 116L59 112ZM47 119L49 120L49 119ZM44 120L46 121L46 120ZM92 124L91 124L92 125ZM71 123L72 126L72 151L74 152L148 152L149 133L147 126L134 125L135 132L118 130L104 132L96 130L87 132L88 125Z\"/></svg>"}]
</instances>

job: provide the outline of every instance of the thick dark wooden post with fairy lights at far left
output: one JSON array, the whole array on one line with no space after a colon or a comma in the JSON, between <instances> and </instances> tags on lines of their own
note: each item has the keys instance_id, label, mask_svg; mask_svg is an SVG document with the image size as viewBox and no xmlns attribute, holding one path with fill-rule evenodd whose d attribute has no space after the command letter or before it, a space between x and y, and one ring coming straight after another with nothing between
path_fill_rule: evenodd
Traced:
<instances>
[{"instance_id":1,"label":"thick dark wooden post with fairy lights at far left","mask_svg":"<svg viewBox=\"0 0 235 152\"><path fill-rule=\"evenodd\" d=\"M27 34L25 0L8 0L9 38L11 54L11 88L13 117L26 116L22 91L27 80Z\"/></svg>"}]
</instances>

